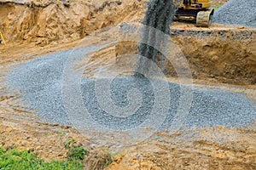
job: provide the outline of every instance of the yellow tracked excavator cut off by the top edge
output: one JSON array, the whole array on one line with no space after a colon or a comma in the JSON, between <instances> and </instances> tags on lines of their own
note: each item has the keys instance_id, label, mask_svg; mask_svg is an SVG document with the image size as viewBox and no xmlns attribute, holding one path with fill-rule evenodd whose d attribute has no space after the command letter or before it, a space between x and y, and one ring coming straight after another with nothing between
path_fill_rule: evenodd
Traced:
<instances>
[{"instance_id":1,"label":"yellow tracked excavator cut off by the top edge","mask_svg":"<svg viewBox=\"0 0 256 170\"><path fill-rule=\"evenodd\" d=\"M175 1L178 6L174 20L195 21L195 26L209 27L214 9L209 0L180 0Z\"/></svg>"}]
</instances>

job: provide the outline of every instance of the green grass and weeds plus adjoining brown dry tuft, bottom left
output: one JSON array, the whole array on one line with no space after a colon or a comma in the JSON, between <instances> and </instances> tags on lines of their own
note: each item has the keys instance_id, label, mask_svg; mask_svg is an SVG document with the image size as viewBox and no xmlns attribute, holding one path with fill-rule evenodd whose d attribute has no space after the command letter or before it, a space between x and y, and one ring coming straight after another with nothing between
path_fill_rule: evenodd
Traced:
<instances>
[{"instance_id":1,"label":"green grass and weeds plus adjoining brown dry tuft, bottom left","mask_svg":"<svg viewBox=\"0 0 256 170\"><path fill-rule=\"evenodd\" d=\"M67 150L67 158L50 162L43 161L29 151L0 147L0 170L79 170L83 169L83 166L88 169L103 169L113 161L113 155L107 147L90 152L86 158L84 156L88 151L74 139L68 138L64 147ZM84 165L82 162L85 162Z\"/></svg>"}]
</instances>

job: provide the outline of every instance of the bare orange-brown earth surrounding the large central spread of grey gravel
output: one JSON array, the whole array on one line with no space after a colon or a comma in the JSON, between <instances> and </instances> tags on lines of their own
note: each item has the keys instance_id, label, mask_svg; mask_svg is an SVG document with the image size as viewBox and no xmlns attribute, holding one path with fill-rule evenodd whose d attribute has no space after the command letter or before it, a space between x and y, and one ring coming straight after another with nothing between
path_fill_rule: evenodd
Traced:
<instances>
[{"instance_id":1,"label":"bare orange-brown earth surrounding the large central spread of grey gravel","mask_svg":"<svg viewBox=\"0 0 256 170\"><path fill-rule=\"evenodd\" d=\"M61 160L67 157L65 144L71 138L89 150L84 169L104 167L102 144L90 138L90 132L86 137L70 125L42 121L20 99L23 92L7 86L6 76L17 65L44 54L116 41L123 23L143 19L146 1L109 2L1 1L0 31L6 41L0 45L1 147L29 150L44 161ZM217 6L226 2L212 1ZM199 28L174 22L171 30L172 40L188 59L195 88L244 94L256 109L256 28L216 23ZM115 71L109 63L122 54L137 54L137 44L120 41L91 53L92 64L84 77ZM125 62L120 60L119 65ZM75 68L85 63L81 59ZM102 66L105 70L98 69ZM166 77L179 82L172 65L166 66ZM108 140L103 144L110 147ZM110 147L109 152L113 162L106 169L256 169L256 122L244 127L195 127L172 134L160 131L136 144Z\"/></svg>"}]
</instances>

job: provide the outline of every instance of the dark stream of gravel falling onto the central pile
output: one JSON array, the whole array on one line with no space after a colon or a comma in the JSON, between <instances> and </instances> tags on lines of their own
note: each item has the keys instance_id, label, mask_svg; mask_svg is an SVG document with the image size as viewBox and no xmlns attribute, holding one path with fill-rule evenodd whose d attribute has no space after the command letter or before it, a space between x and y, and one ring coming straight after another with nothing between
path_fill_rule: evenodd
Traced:
<instances>
[{"instance_id":1,"label":"dark stream of gravel falling onto the central pile","mask_svg":"<svg viewBox=\"0 0 256 170\"><path fill-rule=\"evenodd\" d=\"M161 69L163 69L162 63L165 57L161 56L160 50L165 48L166 38L164 35L161 35L160 31L166 35L170 34L170 25L176 11L175 9L176 6L171 0L150 0L142 22L143 31L141 31L141 38L143 43L138 47L139 54L156 63L157 60L160 60ZM143 75L150 74L151 69L150 62L141 58L137 60L136 70L142 70Z\"/></svg>"}]
</instances>

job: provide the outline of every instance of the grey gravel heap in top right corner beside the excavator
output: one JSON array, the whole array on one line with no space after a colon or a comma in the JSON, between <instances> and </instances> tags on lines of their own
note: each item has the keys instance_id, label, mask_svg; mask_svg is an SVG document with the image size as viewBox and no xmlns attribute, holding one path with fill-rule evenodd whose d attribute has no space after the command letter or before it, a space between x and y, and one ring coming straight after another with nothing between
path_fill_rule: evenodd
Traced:
<instances>
[{"instance_id":1,"label":"grey gravel heap in top right corner beside the excavator","mask_svg":"<svg viewBox=\"0 0 256 170\"><path fill-rule=\"evenodd\" d=\"M256 27L256 1L230 0L218 8L214 14L214 22Z\"/></svg>"}]
</instances>

